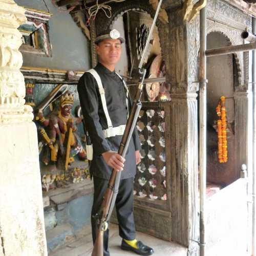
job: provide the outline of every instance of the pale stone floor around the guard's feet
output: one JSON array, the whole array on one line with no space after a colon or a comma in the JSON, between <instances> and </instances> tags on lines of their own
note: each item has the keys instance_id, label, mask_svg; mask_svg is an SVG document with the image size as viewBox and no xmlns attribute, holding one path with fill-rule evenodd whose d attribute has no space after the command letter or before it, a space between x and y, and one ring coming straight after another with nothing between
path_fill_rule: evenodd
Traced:
<instances>
[{"instance_id":1,"label":"pale stone floor around the guard's feet","mask_svg":"<svg viewBox=\"0 0 256 256\"><path fill-rule=\"evenodd\" d=\"M160 239L148 236L147 234L137 232L137 238L147 245L151 245L155 250L155 256L186 256L187 249L181 245L162 241ZM110 228L110 252L111 256L136 255L132 252L120 249L121 238L118 236L118 226L111 224ZM90 229L84 231L84 236L74 242L66 243L56 251L49 253L49 256L90 256L92 252L92 239Z\"/></svg>"}]
</instances>

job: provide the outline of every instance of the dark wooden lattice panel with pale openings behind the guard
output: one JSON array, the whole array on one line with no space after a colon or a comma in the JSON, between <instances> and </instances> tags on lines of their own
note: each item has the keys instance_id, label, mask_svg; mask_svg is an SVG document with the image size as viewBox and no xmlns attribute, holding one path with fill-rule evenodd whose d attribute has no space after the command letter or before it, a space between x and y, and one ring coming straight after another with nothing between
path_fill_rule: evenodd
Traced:
<instances>
[{"instance_id":1,"label":"dark wooden lattice panel with pale openings behind the guard","mask_svg":"<svg viewBox=\"0 0 256 256\"><path fill-rule=\"evenodd\" d=\"M165 111L142 107L137 121L142 146L134 195L138 199L166 201Z\"/></svg>"}]
</instances>

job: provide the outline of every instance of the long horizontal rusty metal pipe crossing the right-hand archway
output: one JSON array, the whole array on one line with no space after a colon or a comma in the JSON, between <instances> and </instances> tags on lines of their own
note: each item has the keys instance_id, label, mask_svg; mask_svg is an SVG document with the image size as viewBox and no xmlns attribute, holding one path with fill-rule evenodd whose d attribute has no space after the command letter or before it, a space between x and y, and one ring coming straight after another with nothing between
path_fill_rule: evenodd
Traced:
<instances>
[{"instance_id":1,"label":"long horizontal rusty metal pipe crossing the right-hand archway","mask_svg":"<svg viewBox=\"0 0 256 256\"><path fill-rule=\"evenodd\" d=\"M209 49L209 50L206 50L205 55L209 57L209 56L225 55L225 54L236 53L236 52L247 52L254 49L256 49L256 41L251 42L250 44L245 44L245 45L226 46L226 47L220 47L215 49Z\"/></svg>"}]
</instances>

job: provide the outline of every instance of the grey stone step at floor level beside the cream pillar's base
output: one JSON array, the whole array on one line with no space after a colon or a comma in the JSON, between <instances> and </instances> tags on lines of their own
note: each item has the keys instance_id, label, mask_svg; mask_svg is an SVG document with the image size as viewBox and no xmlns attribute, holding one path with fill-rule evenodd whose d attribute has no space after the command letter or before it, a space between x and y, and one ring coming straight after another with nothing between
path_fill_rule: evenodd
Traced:
<instances>
[{"instance_id":1,"label":"grey stone step at floor level beside the cream pillar's base","mask_svg":"<svg viewBox=\"0 0 256 256\"><path fill-rule=\"evenodd\" d=\"M73 227L70 224L57 225L46 231L46 239L48 252L51 252L57 247L75 240Z\"/></svg>"}]
</instances>

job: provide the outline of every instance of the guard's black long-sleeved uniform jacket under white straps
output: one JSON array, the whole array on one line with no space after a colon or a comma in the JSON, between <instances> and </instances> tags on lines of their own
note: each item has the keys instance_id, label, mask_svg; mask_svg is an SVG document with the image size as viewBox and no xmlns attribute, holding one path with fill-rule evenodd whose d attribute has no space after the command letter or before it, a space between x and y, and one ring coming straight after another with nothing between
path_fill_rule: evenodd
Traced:
<instances>
[{"instance_id":1,"label":"guard's black long-sleeved uniform jacket under white straps","mask_svg":"<svg viewBox=\"0 0 256 256\"><path fill-rule=\"evenodd\" d=\"M94 68L99 74L102 86L105 91L106 105L109 111L113 127L127 122L126 90L123 82L115 71L110 71L101 63ZM99 89L95 78L90 73L84 73L79 79L77 86L81 109L86 123L86 129L93 144L93 160L90 166L90 173L93 176L110 179L112 168L108 166L102 153L106 151L118 151L122 136L104 138L102 130L108 128L105 114L102 108ZM129 106L131 109L131 98ZM124 168L121 179L134 177L136 174L135 150L140 150L140 140L137 128L133 133L128 151L125 156Z\"/></svg>"}]
</instances>

